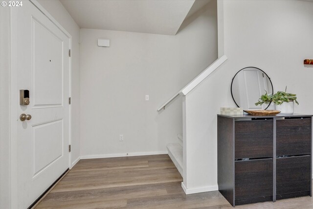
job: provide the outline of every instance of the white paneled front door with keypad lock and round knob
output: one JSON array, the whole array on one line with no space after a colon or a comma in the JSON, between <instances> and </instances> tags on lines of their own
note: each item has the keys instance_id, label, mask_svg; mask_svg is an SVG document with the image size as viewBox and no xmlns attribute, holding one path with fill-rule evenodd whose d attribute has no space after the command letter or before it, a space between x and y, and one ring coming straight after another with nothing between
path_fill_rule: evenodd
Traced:
<instances>
[{"instance_id":1,"label":"white paneled front door with keypad lock and round knob","mask_svg":"<svg viewBox=\"0 0 313 209\"><path fill-rule=\"evenodd\" d=\"M11 9L17 107L18 207L29 207L69 167L70 39L32 2ZM14 42L14 43L13 43ZM15 83L14 83L15 82ZM19 116L30 115L21 121Z\"/></svg>"}]
</instances>

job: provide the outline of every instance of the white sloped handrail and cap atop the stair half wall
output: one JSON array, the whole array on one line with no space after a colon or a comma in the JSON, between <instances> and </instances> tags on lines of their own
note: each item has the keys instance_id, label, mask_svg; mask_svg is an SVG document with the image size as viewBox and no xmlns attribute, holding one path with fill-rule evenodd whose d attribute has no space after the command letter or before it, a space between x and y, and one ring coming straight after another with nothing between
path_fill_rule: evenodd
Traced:
<instances>
[{"instance_id":1,"label":"white sloped handrail and cap atop the stair half wall","mask_svg":"<svg viewBox=\"0 0 313 209\"><path fill-rule=\"evenodd\" d=\"M209 67L203 70L195 79L193 79L189 84L187 84L184 88L182 88L178 93L176 93L172 98L170 98L167 102L165 102L157 111L159 112L162 109L165 109L165 106L169 104L173 99L175 99L179 94L185 96L191 90L193 90L198 84L201 83L207 76L209 76L214 70L220 67L225 61L227 57L223 55L219 59L217 59L214 63L212 63Z\"/></svg>"}]
</instances>

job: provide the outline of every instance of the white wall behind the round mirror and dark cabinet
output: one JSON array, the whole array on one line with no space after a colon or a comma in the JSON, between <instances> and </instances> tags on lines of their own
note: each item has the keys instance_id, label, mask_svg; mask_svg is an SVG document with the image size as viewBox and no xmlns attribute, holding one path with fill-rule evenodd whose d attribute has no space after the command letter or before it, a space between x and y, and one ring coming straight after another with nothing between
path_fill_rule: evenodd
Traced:
<instances>
[{"instance_id":1,"label":"white wall behind the round mirror and dark cabinet","mask_svg":"<svg viewBox=\"0 0 313 209\"><path fill-rule=\"evenodd\" d=\"M287 85L297 94L300 105L295 105L295 113L313 113L313 69L303 65L304 59L313 58L313 28L308 26L312 11L312 2L298 0L224 1L228 60L185 98L187 137L194 140L189 148L195 150L189 158L189 188L217 186L217 114L220 107L236 106L230 84L238 70L264 70L274 92Z\"/></svg>"}]
</instances>

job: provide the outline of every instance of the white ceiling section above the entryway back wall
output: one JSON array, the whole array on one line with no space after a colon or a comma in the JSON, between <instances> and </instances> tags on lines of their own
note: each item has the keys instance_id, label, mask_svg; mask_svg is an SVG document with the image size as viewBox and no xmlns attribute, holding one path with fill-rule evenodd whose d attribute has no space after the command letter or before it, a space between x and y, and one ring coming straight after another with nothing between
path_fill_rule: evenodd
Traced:
<instances>
[{"instance_id":1,"label":"white ceiling section above the entryway back wall","mask_svg":"<svg viewBox=\"0 0 313 209\"><path fill-rule=\"evenodd\" d=\"M195 2L195 0L60 1L81 28L164 35L177 33ZM208 0L197 1L199 1L197 5L208 2Z\"/></svg>"}]
</instances>

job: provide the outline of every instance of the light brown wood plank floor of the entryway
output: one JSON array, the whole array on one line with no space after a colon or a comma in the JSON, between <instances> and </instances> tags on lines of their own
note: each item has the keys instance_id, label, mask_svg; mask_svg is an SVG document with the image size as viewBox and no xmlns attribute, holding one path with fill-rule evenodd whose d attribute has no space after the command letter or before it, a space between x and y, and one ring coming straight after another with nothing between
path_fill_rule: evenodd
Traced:
<instances>
[{"instance_id":1,"label":"light brown wood plank floor of the entryway","mask_svg":"<svg viewBox=\"0 0 313 209\"><path fill-rule=\"evenodd\" d=\"M80 160L36 209L232 209L218 191L185 195L168 155ZM312 197L236 209L313 209Z\"/></svg>"}]
</instances>

